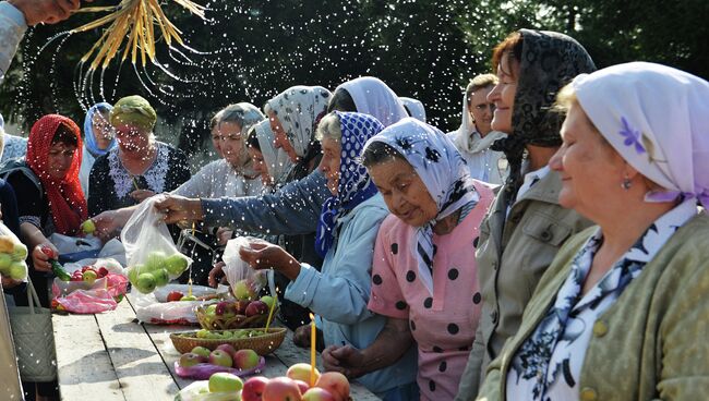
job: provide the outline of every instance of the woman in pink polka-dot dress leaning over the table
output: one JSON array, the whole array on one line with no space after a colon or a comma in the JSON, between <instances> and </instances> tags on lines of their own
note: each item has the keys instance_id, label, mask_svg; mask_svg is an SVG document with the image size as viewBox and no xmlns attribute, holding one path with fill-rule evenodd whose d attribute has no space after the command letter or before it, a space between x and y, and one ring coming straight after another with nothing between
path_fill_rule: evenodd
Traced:
<instances>
[{"instance_id":1,"label":"woman in pink polka-dot dress leaning over the table","mask_svg":"<svg viewBox=\"0 0 709 401\"><path fill-rule=\"evenodd\" d=\"M369 301L387 323L370 347L336 344L323 361L357 377L416 340L421 399L450 400L480 317L473 240L492 190L470 178L448 137L411 118L371 138L362 160L392 212L376 239Z\"/></svg>"}]
</instances>

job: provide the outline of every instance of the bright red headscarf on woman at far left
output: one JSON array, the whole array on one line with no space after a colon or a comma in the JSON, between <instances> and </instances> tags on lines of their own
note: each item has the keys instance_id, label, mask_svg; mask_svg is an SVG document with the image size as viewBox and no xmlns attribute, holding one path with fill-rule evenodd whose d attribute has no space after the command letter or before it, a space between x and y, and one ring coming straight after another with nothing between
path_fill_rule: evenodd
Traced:
<instances>
[{"instance_id":1,"label":"bright red headscarf on woman at far left","mask_svg":"<svg viewBox=\"0 0 709 401\"><path fill-rule=\"evenodd\" d=\"M76 137L74 158L63 179L51 178L47 171L49 148L59 124L71 129ZM86 199L79 182L81 168L82 141L79 126L69 118L59 114L47 114L39 119L29 131L27 141L27 166L34 171L47 193L51 216L58 233L73 235L81 223L87 218Z\"/></svg>"}]
</instances>

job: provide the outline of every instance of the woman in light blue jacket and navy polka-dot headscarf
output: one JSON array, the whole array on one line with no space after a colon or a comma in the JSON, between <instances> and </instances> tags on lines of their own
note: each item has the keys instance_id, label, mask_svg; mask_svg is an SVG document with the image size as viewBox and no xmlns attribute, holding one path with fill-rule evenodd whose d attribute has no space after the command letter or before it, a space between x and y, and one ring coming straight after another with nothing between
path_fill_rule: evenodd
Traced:
<instances>
[{"instance_id":1,"label":"woman in light blue jacket and navy polka-dot headscarf","mask_svg":"<svg viewBox=\"0 0 709 401\"><path fill-rule=\"evenodd\" d=\"M383 329L386 318L366 309L370 297L374 240L387 209L358 163L364 142L383 129L370 116L331 113L317 130L323 159L319 169L333 196L323 205L317 224L317 252L325 257L322 272L301 264L275 245L252 243L241 257L255 268L275 268L291 281L286 297L310 307L323 319L326 345L366 348ZM350 149L350 151L343 151ZM416 353L360 377L380 397L409 400L413 394Z\"/></svg>"}]
</instances>

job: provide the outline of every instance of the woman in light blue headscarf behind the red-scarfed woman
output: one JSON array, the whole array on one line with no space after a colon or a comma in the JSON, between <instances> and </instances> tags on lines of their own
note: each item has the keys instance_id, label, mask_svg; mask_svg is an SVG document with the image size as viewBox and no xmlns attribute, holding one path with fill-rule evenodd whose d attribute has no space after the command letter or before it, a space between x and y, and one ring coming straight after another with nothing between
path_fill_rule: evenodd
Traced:
<instances>
[{"instance_id":1,"label":"woman in light blue headscarf behind the red-scarfed woman","mask_svg":"<svg viewBox=\"0 0 709 401\"><path fill-rule=\"evenodd\" d=\"M84 118L84 149L79 171L79 181L88 198L88 175L94 161L116 146L116 134L108 116L113 107L107 102L92 106Z\"/></svg>"}]
</instances>

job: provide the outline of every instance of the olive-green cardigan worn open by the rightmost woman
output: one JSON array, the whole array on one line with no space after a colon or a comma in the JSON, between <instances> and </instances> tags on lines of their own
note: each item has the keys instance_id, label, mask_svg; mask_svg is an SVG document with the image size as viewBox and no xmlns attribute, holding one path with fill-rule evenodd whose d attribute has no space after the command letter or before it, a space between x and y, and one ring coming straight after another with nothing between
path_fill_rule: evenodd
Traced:
<instances>
[{"instance_id":1,"label":"olive-green cardigan worn open by the rightmost woman","mask_svg":"<svg viewBox=\"0 0 709 401\"><path fill-rule=\"evenodd\" d=\"M479 400L504 400L513 355L533 332L593 234L568 241L525 309L519 331L490 364ZM706 400L709 394L709 217L692 218L593 325L580 400Z\"/></svg>"}]
</instances>

